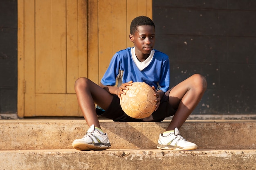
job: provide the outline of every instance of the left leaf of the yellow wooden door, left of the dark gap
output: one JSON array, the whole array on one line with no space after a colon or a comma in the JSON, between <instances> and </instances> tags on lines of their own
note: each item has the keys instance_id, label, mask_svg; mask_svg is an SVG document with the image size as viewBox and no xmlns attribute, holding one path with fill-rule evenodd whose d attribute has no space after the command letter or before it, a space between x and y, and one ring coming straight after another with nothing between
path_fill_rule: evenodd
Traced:
<instances>
[{"instance_id":1,"label":"left leaf of the yellow wooden door, left of the dark gap","mask_svg":"<svg viewBox=\"0 0 256 170\"><path fill-rule=\"evenodd\" d=\"M88 76L86 1L19 0L18 7L24 69L18 115L81 116L74 81Z\"/></svg>"}]
</instances>

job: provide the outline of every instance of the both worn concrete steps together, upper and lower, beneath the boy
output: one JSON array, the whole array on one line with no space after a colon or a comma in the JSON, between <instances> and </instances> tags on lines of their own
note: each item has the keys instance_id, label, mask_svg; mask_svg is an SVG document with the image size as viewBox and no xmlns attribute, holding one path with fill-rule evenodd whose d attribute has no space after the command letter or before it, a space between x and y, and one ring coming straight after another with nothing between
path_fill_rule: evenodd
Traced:
<instances>
[{"instance_id":1,"label":"both worn concrete steps together, upper and lower, beneath the boy","mask_svg":"<svg viewBox=\"0 0 256 170\"><path fill-rule=\"evenodd\" d=\"M193 151L156 149L164 122L101 120L112 148L72 149L84 120L0 121L0 170L256 170L256 121L186 121L181 134Z\"/></svg>"}]
</instances>

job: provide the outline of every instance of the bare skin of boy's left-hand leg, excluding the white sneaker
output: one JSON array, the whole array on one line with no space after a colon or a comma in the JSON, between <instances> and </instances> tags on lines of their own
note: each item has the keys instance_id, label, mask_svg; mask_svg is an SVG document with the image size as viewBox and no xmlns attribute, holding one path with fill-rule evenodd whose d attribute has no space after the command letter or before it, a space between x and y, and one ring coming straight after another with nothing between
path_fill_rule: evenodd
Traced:
<instances>
[{"instance_id":1,"label":"bare skin of boy's left-hand leg, excluding the white sneaker","mask_svg":"<svg viewBox=\"0 0 256 170\"><path fill-rule=\"evenodd\" d=\"M101 128L94 102L106 110L112 102L113 95L85 77L76 80L75 91L78 104L88 126L94 124L95 127Z\"/></svg>"}]
</instances>

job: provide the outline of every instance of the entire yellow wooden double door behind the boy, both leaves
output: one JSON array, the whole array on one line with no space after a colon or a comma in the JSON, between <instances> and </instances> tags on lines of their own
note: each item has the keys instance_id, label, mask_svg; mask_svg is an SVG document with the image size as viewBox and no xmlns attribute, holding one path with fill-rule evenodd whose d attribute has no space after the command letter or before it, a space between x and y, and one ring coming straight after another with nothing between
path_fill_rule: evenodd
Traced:
<instances>
[{"instance_id":1,"label":"entire yellow wooden double door behind the boy, both leaves","mask_svg":"<svg viewBox=\"0 0 256 170\"><path fill-rule=\"evenodd\" d=\"M82 116L75 80L99 83L138 15L152 0L18 0L18 116Z\"/></svg>"}]
</instances>

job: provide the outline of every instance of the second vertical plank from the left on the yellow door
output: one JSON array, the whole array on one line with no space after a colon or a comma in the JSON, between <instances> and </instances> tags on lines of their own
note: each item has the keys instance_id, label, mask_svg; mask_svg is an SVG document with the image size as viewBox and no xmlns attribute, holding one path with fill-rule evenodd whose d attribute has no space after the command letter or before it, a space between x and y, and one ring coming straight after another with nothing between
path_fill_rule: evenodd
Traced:
<instances>
[{"instance_id":1,"label":"second vertical plank from the left on the yellow door","mask_svg":"<svg viewBox=\"0 0 256 170\"><path fill-rule=\"evenodd\" d=\"M51 0L35 0L36 93L49 93L51 71Z\"/></svg>"}]
</instances>

